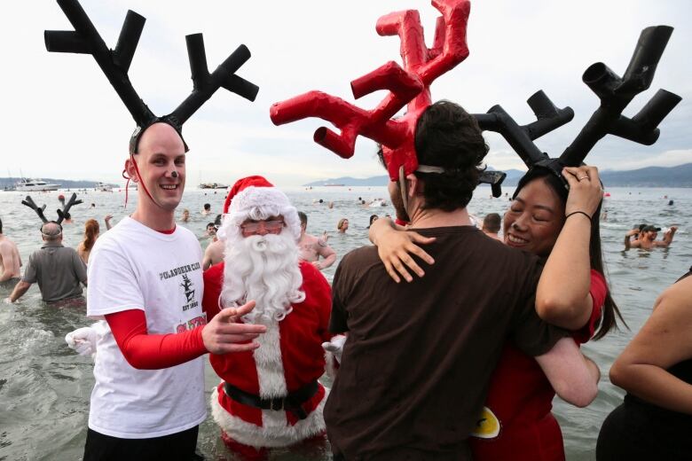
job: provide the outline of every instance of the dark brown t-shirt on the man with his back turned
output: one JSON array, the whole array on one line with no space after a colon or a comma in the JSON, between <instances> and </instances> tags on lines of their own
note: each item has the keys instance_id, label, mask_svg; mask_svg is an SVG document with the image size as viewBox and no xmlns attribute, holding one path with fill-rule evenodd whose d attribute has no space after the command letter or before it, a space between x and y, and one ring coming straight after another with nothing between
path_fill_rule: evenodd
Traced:
<instances>
[{"instance_id":1,"label":"dark brown t-shirt on the man with his back turned","mask_svg":"<svg viewBox=\"0 0 692 461\"><path fill-rule=\"evenodd\" d=\"M536 314L536 256L471 226L416 231L436 237L425 277L396 284L374 246L334 275L329 327L349 337L324 414L349 460L470 459L504 341L538 356L568 335Z\"/></svg>"}]
</instances>

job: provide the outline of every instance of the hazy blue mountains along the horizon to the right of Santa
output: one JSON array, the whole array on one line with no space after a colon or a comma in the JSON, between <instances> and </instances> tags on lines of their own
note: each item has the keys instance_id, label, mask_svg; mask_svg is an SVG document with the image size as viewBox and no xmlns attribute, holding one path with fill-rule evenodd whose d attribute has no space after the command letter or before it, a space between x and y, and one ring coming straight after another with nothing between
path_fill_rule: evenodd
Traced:
<instances>
[{"instance_id":1,"label":"hazy blue mountains along the horizon to the right of Santa","mask_svg":"<svg viewBox=\"0 0 692 461\"><path fill-rule=\"evenodd\" d=\"M489 169L493 169L489 167ZM507 177L502 185L514 186L525 171L507 169ZM692 187L692 163L677 167L647 167L627 171L603 170L603 184L611 187ZM364 179L355 177L337 177L324 181L315 181L305 186L347 185L347 186L383 186L389 182L389 176L373 176Z\"/></svg>"}]
</instances>

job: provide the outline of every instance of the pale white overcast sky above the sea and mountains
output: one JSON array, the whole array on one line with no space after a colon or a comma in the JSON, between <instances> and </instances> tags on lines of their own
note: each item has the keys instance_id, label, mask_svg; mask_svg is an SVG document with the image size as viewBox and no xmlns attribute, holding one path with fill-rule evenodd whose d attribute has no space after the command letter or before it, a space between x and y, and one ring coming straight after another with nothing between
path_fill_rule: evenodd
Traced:
<instances>
[{"instance_id":1,"label":"pale white overcast sky above the sea and mountains","mask_svg":"<svg viewBox=\"0 0 692 461\"><path fill-rule=\"evenodd\" d=\"M374 160L374 142L359 137L356 153L342 160L312 142L326 122L298 121L274 127L272 103L307 90L353 101L350 81L388 60L400 62L397 37L374 30L385 13L421 12L430 44L438 12L419 0L330 2L171 2L83 0L83 8L109 47L117 41L128 9L146 24L130 66L140 97L159 115L169 113L192 90L185 35L202 32L208 67L216 69L240 43L252 58L238 74L256 83L251 103L219 90L185 123L190 145L187 183L229 184L263 174L279 185L299 185L337 176L384 174ZM641 29L675 27L651 88L625 114L637 113L659 88L683 100L661 124L652 146L606 137L587 162L602 169L672 166L692 161L692 2L688 0L592 1L476 0L468 21L468 59L432 86L434 99L451 99L471 113L502 105L520 124L533 115L525 101L545 90L555 105L570 105L575 118L537 142L557 155L598 105L581 82L587 66L602 61L625 72ZM59 177L120 183L134 121L90 55L49 53L43 30L72 30L51 0L12 2L0 18L4 143L0 176ZM383 93L358 101L370 108ZM326 126L329 126L326 124ZM497 135L487 162L522 168Z\"/></svg>"}]
</instances>

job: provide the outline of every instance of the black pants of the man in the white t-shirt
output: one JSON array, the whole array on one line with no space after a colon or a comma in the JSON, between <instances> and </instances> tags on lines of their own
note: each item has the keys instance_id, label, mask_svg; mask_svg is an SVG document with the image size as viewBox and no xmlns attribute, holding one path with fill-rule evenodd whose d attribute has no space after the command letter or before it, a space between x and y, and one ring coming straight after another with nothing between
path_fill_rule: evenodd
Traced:
<instances>
[{"instance_id":1,"label":"black pants of the man in the white t-shirt","mask_svg":"<svg viewBox=\"0 0 692 461\"><path fill-rule=\"evenodd\" d=\"M84 445L83 461L193 461L204 459L196 455L197 431L194 426L186 431L153 437L152 439L120 439L110 435L98 434L89 429Z\"/></svg>"}]
</instances>

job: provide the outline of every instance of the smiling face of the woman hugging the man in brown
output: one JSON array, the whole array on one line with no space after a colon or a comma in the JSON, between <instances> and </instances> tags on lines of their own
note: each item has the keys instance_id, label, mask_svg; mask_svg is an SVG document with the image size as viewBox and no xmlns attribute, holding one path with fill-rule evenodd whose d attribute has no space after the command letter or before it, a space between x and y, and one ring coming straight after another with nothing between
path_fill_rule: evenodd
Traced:
<instances>
[{"instance_id":1,"label":"smiling face of the woman hugging the man in brown","mask_svg":"<svg viewBox=\"0 0 692 461\"><path fill-rule=\"evenodd\" d=\"M547 256L564 223L564 204L542 178L526 184L512 201L504 219L508 246Z\"/></svg>"}]
</instances>

